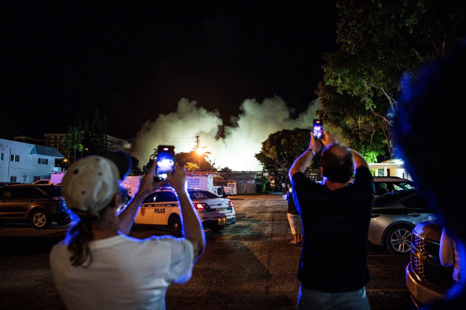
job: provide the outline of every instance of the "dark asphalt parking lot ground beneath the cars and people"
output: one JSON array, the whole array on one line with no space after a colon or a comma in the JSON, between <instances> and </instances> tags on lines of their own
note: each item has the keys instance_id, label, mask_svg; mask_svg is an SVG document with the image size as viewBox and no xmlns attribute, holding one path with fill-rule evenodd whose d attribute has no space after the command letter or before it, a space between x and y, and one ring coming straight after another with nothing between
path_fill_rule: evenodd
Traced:
<instances>
[{"instance_id":1,"label":"dark asphalt parking lot ground beneath the cars and people","mask_svg":"<svg viewBox=\"0 0 466 310\"><path fill-rule=\"evenodd\" d=\"M219 233L206 230L206 252L188 283L169 287L167 308L295 308L301 247L289 244L286 201L281 195L230 198L236 224ZM64 308L53 286L48 254L66 228L52 224L40 231L26 224L1 224L0 308ZM131 235L145 238L164 233L134 228ZM404 279L409 257L370 244L368 260L372 280L366 289L371 308L414 308Z\"/></svg>"}]
</instances>

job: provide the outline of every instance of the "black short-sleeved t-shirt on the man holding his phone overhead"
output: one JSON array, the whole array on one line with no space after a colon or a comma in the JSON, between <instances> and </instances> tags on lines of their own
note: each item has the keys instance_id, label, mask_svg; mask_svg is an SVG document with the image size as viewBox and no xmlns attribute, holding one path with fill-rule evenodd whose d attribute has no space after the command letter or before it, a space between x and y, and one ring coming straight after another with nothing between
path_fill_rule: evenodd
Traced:
<instances>
[{"instance_id":1,"label":"black short-sleeved t-shirt on the man holding his phone overhead","mask_svg":"<svg viewBox=\"0 0 466 310\"><path fill-rule=\"evenodd\" d=\"M323 292L362 288L370 280L367 234L375 189L369 169L358 168L354 182L336 191L300 172L292 185L304 235L298 279Z\"/></svg>"}]
</instances>

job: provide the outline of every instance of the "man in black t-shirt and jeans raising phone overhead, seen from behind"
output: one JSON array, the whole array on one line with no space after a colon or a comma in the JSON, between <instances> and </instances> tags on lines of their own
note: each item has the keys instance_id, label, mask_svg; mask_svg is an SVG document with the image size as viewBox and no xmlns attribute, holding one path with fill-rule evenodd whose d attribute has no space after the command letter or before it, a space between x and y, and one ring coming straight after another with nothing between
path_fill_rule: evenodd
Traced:
<instances>
[{"instance_id":1,"label":"man in black t-shirt and jeans raising phone overhead, seen from behind","mask_svg":"<svg viewBox=\"0 0 466 310\"><path fill-rule=\"evenodd\" d=\"M298 308L365 309L370 280L367 233L374 204L374 180L358 152L325 133L314 140L290 169L293 198L303 222L304 246L298 270ZM322 151L323 184L304 171ZM354 182L348 184L355 172Z\"/></svg>"}]
</instances>

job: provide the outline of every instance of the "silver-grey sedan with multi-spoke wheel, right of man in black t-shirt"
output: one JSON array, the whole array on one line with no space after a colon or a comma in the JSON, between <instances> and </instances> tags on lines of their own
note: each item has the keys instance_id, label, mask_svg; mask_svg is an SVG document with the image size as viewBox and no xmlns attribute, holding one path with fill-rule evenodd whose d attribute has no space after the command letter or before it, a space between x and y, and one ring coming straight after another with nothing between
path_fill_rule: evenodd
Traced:
<instances>
[{"instance_id":1,"label":"silver-grey sedan with multi-spoke wheel, right of man in black t-shirt","mask_svg":"<svg viewBox=\"0 0 466 310\"><path fill-rule=\"evenodd\" d=\"M392 253L408 255L411 231L433 215L416 189L387 193L374 200L368 239Z\"/></svg>"}]
</instances>

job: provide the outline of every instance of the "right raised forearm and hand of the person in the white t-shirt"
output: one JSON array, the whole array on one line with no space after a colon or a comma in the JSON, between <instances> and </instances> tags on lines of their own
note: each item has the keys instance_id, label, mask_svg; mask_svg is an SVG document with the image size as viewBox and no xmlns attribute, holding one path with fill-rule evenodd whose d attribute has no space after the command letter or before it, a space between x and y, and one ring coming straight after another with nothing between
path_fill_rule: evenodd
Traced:
<instances>
[{"instance_id":1,"label":"right raised forearm and hand of the person in the white t-shirt","mask_svg":"<svg viewBox=\"0 0 466 310\"><path fill-rule=\"evenodd\" d=\"M178 195L184 238L190 240L193 244L194 259L196 260L204 252L206 241L198 212L194 209L193 203L184 188L185 180L186 173L184 169L176 163L174 173L168 174L167 181Z\"/></svg>"}]
</instances>

